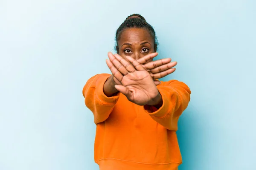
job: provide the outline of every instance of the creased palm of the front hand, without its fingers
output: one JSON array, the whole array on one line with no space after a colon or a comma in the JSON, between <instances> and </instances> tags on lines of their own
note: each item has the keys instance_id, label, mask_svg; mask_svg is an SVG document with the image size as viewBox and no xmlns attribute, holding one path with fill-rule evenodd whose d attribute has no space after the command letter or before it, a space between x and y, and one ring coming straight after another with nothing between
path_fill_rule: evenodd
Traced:
<instances>
[{"instance_id":1,"label":"creased palm of the front hand, without its fingers","mask_svg":"<svg viewBox=\"0 0 256 170\"><path fill-rule=\"evenodd\" d=\"M153 79L145 70L129 72L122 77L120 83L126 88L123 89L127 99L137 105L146 105L158 94Z\"/></svg>"}]
</instances>

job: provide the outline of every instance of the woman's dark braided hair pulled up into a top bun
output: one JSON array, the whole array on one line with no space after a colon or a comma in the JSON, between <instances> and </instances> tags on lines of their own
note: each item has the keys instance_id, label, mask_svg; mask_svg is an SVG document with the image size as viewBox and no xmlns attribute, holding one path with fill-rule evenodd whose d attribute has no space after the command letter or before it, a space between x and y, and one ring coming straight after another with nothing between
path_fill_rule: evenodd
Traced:
<instances>
[{"instance_id":1,"label":"woman's dark braided hair pulled up into a top bun","mask_svg":"<svg viewBox=\"0 0 256 170\"><path fill-rule=\"evenodd\" d=\"M132 17L132 16L137 16L137 17ZM129 18L132 17L132 18ZM139 18L138 18L139 17ZM119 26L119 28L116 30L116 52L118 53L119 48L118 48L118 40L120 40L120 35L122 31L124 31L127 28L145 28L148 30L149 34L151 34L152 38L154 39L154 51L157 51L157 37L156 33L154 31L154 28L146 22L145 18L141 16L140 14L132 14L129 15L125 21Z\"/></svg>"}]
</instances>

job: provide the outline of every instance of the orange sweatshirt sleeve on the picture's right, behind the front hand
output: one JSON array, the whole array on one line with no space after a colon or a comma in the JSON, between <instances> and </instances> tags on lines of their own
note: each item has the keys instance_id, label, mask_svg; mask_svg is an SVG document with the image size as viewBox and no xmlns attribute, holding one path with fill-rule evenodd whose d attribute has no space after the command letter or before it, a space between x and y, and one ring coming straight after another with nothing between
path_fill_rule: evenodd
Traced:
<instances>
[{"instance_id":1,"label":"orange sweatshirt sleeve on the picture's right, behind the front hand","mask_svg":"<svg viewBox=\"0 0 256 170\"><path fill-rule=\"evenodd\" d=\"M185 83L177 80L162 83L157 89L162 96L163 105L159 109L146 105L144 111L166 129L176 131L178 119L189 104L191 91Z\"/></svg>"}]
</instances>

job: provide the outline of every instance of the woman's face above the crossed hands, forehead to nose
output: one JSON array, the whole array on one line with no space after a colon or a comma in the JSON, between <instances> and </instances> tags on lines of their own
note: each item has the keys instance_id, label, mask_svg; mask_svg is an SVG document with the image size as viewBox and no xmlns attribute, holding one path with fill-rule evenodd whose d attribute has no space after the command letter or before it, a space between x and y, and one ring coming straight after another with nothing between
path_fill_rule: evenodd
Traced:
<instances>
[{"instance_id":1,"label":"woman's face above the crossed hands, forehead to nose","mask_svg":"<svg viewBox=\"0 0 256 170\"><path fill-rule=\"evenodd\" d=\"M122 31L118 41L118 54L136 60L154 53L154 39L145 28L127 28Z\"/></svg>"}]
</instances>

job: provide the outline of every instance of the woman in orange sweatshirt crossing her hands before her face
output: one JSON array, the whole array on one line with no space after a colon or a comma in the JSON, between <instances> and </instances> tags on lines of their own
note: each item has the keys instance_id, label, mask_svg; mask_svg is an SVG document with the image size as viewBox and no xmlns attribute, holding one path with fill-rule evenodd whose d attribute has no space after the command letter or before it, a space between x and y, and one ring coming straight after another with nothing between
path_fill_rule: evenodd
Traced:
<instances>
[{"instance_id":1,"label":"woman in orange sweatshirt crossing her hands before her face","mask_svg":"<svg viewBox=\"0 0 256 170\"><path fill-rule=\"evenodd\" d=\"M182 159L177 122L191 91L183 82L159 81L175 71L157 56L154 29L139 14L116 31L110 74L97 74L83 88L96 126L94 159L100 170L177 170Z\"/></svg>"}]
</instances>

